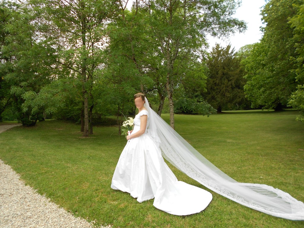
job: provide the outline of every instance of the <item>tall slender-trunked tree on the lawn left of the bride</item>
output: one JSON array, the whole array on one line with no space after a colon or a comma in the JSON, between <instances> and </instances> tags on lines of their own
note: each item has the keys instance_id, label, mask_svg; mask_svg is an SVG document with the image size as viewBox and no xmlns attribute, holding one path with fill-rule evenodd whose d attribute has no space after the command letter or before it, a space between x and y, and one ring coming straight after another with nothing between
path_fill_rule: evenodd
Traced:
<instances>
[{"instance_id":1,"label":"tall slender-trunked tree on the lawn left of the bride","mask_svg":"<svg viewBox=\"0 0 304 228\"><path fill-rule=\"evenodd\" d=\"M62 69L57 78L75 78L81 82L84 131L89 134L89 110L92 113L92 88L102 65L105 44L103 30L117 5L110 1L29 0L36 12L35 26L43 43L53 47L56 67Z\"/></svg>"}]
</instances>

